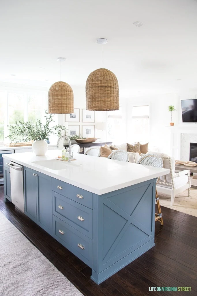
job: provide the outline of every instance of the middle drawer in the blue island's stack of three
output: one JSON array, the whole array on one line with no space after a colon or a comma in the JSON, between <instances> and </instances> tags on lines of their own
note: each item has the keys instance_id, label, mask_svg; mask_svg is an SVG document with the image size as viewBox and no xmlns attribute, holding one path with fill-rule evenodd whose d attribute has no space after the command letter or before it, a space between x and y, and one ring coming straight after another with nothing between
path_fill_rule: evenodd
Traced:
<instances>
[{"instance_id":1,"label":"middle drawer in the blue island's stack of three","mask_svg":"<svg viewBox=\"0 0 197 296\"><path fill-rule=\"evenodd\" d=\"M52 197L53 215L92 239L92 210L54 191Z\"/></svg>"}]
</instances>

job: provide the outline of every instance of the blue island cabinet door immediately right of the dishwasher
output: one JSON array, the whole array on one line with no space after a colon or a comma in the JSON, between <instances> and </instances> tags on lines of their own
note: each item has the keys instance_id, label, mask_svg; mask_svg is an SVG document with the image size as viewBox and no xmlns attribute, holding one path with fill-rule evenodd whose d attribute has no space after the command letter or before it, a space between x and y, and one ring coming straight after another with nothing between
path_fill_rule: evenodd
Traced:
<instances>
[{"instance_id":1,"label":"blue island cabinet door immediately right of the dishwasher","mask_svg":"<svg viewBox=\"0 0 197 296\"><path fill-rule=\"evenodd\" d=\"M36 171L24 167L23 178L25 215L36 223Z\"/></svg>"}]
</instances>

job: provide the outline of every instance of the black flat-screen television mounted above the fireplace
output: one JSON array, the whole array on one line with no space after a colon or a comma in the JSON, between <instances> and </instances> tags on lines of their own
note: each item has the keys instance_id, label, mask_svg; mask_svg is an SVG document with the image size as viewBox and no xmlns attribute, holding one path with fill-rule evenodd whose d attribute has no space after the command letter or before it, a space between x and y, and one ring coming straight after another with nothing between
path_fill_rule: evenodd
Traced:
<instances>
[{"instance_id":1,"label":"black flat-screen television mounted above the fireplace","mask_svg":"<svg viewBox=\"0 0 197 296\"><path fill-rule=\"evenodd\" d=\"M197 99L181 100L183 122L197 122Z\"/></svg>"}]
</instances>

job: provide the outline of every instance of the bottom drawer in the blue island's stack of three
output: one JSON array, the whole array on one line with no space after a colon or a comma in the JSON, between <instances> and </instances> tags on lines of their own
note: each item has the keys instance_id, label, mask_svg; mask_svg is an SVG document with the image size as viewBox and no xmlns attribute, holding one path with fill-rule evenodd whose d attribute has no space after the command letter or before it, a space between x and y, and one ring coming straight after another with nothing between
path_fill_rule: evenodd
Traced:
<instances>
[{"instance_id":1,"label":"bottom drawer in the blue island's stack of three","mask_svg":"<svg viewBox=\"0 0 197 296\"><path fill-rule=\"evenodd\" d=\"M53 215L53 237L92 268L93 241Z\"/></svg>"}]
</instances>

